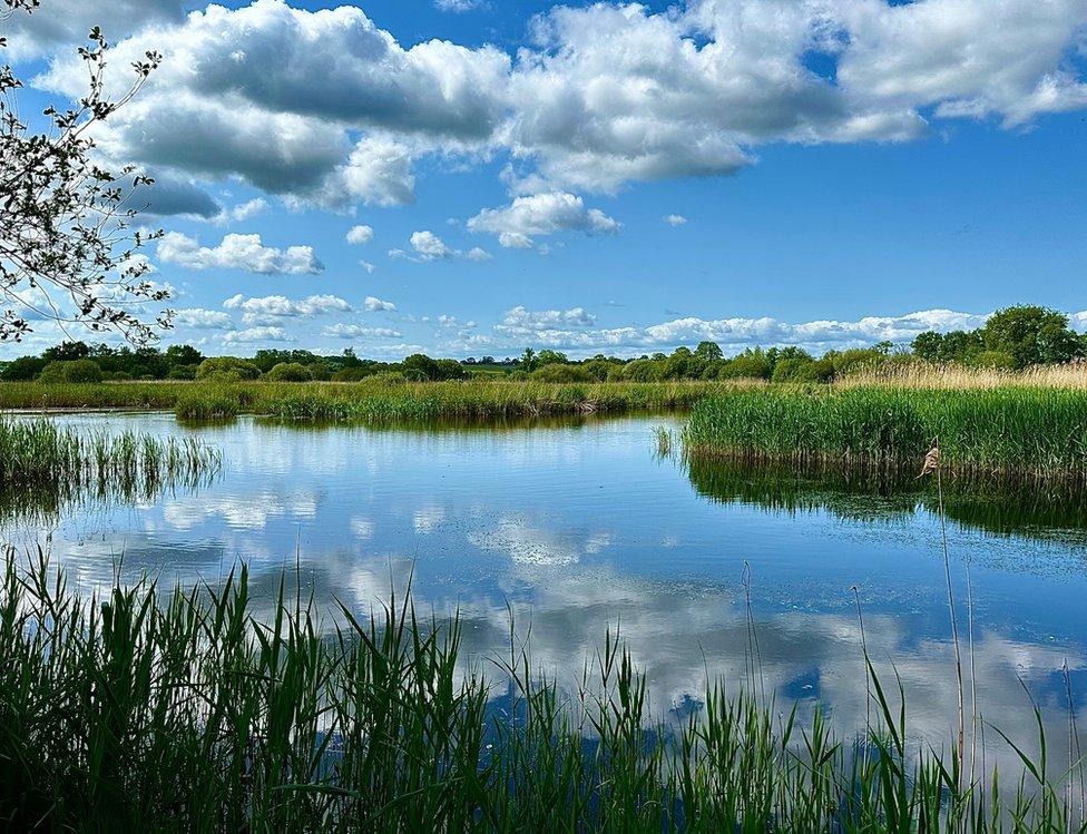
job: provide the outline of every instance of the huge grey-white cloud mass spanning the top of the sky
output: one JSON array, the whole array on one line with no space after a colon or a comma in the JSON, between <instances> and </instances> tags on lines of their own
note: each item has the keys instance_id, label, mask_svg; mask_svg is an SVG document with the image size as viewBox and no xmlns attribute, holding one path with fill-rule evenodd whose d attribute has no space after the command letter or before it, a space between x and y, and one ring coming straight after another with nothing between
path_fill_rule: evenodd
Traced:
<instances>
[{"instance_id":1,"label":"huge grey-white cloud mass spanning the top of the sky","mask_svg":"<svg viewBox=\"0 0 1087 834\"><path fill-rule=\"evenodd\" d=\"M764 144L902 141L931 122L1015 128L1087 107L1083 0L559 4L516 57L401 45L346 4L255 0L185 18L177 0L55 4L61 13L17 18L17 45L86 29L95 6L107 31L145 27L117 46L112 87L143 50L166 52L97 137L102 153L339 209L412 202L425 155L460 165L507 154L517 194L611 192L731 174ZM61 57L37 84L78 96L86 75ZM497 234L508 246L532 237Z\"/></svg>"}]
</instances>

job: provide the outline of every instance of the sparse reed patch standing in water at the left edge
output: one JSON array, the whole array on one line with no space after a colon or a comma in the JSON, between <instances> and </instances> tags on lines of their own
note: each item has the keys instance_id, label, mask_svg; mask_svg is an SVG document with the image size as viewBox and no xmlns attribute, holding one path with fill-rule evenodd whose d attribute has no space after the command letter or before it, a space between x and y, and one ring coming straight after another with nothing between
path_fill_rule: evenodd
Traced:
<instances>
[{"instance_id":1,"label":"sparse reed patch standing in water at the left edge","mask_svg":"<svg viewBox=\"0 0 1087 834\"><path fill-rule=\"evenodd\" d=\"M219 453L192 438L159 440L137 432L81 433L48 420L0 419L0 483L138 491L198 481L218 469Z\"/></svg>"}]
</instances>

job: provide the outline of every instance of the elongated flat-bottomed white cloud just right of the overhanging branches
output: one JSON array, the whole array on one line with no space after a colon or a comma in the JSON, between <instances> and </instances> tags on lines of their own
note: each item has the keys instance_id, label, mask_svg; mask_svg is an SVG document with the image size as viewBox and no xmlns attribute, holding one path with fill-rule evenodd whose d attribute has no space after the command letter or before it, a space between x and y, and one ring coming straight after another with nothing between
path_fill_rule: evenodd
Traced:
<instances>
[{"instance_id":1,"label":"elongated flat-bottomed white cloud just right of the overhanging branches","mask_svg":"<svg viewBox=\"0 0 1087 834\"><path fill-rule=\"evenodd\" d=\"M276 249L259 235L226 235L218 246L200 246L194 237L167 232L158 242L158 258L189 269L244 269L262 275L313 275L324 269L312 246Z\"/></svg>"}]
</instances>

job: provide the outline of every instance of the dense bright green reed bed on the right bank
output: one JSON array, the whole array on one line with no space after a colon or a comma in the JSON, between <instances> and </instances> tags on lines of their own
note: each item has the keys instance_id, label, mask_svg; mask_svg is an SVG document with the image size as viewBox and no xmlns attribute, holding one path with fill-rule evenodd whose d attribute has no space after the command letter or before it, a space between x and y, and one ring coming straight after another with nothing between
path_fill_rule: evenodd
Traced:
<instances>
[{"instance_id":1,"label":"dense bright green reed bed on the right bank","mask_svg":"<svg viewBox=\"0 0 1087 834\"><path fill-rule=\"evenodd\" d=\"M949 471L1087 478L1087 390L734 392L694 406L684 444L695 457L913 468L934 438Z\"/></svg>"}]
</instances>

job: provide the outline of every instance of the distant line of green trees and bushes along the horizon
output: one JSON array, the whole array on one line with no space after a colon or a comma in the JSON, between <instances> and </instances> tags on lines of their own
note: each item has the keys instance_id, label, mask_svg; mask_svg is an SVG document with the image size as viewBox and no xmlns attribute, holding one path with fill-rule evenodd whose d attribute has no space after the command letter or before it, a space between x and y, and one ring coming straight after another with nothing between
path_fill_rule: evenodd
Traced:
<instances>
[{"instance_id":1,"label":"distant line of green trees and bushes along the horizon","mask_svg":"<svg viewBox=\"0 0 1087 834\"><path fill-rule=\"evenodd\" d=\"M434 359L417 353L401 362L360 359L351 349L336 355L305 350L262 350L253 356L205 356L192 345L111 347L65 342L40 355L0 363L0 381L95 383L121 380L268 380L356 382L442 381L470 377L544 382L657 382L665 380L758 379L773 382L829 382L862 367L887 363L939 362L973 367L1021 370L1075 362L1087 356L1087 336L1068 316L1039 306L1001 310L973 331L919 334L910 345L880 342L870 347L828 351L821 356L796 347L753 347L726 357L715 342L677 347L636 359L597 354L571 360L558 351L526 349L518 357Z\"/></svg>"}]
</instances>

